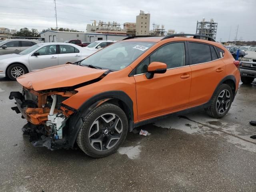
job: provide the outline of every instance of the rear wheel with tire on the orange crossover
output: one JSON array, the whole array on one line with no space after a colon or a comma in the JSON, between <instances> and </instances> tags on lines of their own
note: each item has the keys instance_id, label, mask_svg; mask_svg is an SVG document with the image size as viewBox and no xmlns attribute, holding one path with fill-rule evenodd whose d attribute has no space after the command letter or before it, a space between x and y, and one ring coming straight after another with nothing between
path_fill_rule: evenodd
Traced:
<instances>
[{"instance_id":1,"label":"rear wheel with tire on the orange crossover","mask_svg":"<svg viewBox=\"0 0 256 192\"><path fill-rule=\"evenodd\" d=\"M230 109L234 94L231 87L227 84L222 84L214 94L211 105L206 108L209 116L214 118L224 117Z\"/></svg>"}]
</instances>

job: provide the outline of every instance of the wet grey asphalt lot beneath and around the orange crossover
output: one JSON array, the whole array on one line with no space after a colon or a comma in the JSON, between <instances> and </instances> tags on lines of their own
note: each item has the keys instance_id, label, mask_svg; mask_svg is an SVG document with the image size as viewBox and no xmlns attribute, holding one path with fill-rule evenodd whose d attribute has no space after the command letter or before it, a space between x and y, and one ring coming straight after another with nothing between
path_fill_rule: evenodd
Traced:
<instances>
[{"instance_id":1,"label":"wet grey asphalt lot beneath and around the orange crossover","mask_svg":"<svg viewBox=\"0 0 256 192\"><path fill-rule=\"evenodd\" d=\"M79 148L34 148L22 135L26 120L10 109L9 93L19 90L0 79L1 192L256 191L256 82L240 84L222 119L198 111L142 126L101 159Z\"/></svg>"}]
</instances>

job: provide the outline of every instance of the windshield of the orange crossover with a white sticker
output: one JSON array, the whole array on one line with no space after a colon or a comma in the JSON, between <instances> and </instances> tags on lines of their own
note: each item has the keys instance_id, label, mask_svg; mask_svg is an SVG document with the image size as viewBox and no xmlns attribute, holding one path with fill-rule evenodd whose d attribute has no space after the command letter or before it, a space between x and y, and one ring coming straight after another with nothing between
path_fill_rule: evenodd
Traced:
<instances>
[{"instance_id":1,"label":"windshield of the orange crossover with a white sticker","mask_svg":"<svg viewBox=\"0 0 256 192\"><path fill-rule=\"evenodd\" d=\"M155 42L120 41L107 46L84 59L81 65L93 65L103 69L121 70L129 66Z\"/></svg>"}]
</instances>

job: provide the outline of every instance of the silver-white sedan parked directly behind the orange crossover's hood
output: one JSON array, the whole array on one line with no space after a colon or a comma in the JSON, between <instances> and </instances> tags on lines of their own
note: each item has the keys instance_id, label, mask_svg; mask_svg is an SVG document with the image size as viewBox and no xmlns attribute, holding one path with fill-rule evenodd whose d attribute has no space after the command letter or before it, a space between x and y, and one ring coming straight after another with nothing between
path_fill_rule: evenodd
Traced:
<instances>
[{"instance_id":1,"label":"silver-white sedan parked directly behind the orange crossover's hood","mask_svg":"<svg viewBox=\"0 0 256 192\"><path fill-rule=\"evenodd\" d=\"M20 54L0 56L0 77L16 80L25 73L67 62L77 62L87 56L87 50L75 44L40 43Z\"/></svg>"}]
</instances>

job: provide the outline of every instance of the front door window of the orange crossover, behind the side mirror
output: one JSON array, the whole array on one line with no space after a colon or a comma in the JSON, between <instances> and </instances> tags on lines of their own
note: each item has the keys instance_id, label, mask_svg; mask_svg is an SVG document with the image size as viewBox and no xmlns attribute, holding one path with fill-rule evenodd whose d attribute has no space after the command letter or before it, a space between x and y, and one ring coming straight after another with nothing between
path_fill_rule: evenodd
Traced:
<instances>
[{"instance_id":1,"label":"front door window of the orange crossover, behind the side mirror","mask_svg":"<svg viewBox=\"0 0 256 192\"><path fill-rule=\"evenodd\" d=\"M152 62L165 63L167 69L185 66L184 42L170 43L162 46L137 66L135 74L146 73L148 65Z\"/></svg>"}]
</instances>

